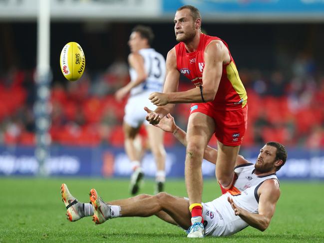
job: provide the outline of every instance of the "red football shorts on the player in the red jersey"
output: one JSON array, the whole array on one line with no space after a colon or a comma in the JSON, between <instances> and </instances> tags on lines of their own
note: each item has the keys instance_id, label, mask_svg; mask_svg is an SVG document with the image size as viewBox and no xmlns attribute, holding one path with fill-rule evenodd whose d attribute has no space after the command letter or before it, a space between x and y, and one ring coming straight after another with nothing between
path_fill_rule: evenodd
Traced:
<instances>
[{"instance_id":1,"label":"red football shorts on the player in the red jersey","mask_svg":"<svg viewBox=\"0 0 324 243\"><path fill-rule=\"evenodd\" d=\"M248 104L238 110L215 110L209 103L192 103L190 114L203 113L215 121L215 136L226 146L238 146L248 125Z\"/></svg>"}]
</instances>

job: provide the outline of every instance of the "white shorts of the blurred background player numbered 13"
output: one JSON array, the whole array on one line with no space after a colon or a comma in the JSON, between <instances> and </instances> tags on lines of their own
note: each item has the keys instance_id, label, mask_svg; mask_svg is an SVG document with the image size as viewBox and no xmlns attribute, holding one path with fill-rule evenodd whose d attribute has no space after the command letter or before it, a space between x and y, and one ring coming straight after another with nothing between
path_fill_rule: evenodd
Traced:
<instances>
[{"instance_id":1,"label":"white shorts of the blurred background player numbered 13","mask_svg":"<svg viewBox=\"0 0 324 243\"><path fill-rule=\"evenodd\" d=\"M150 110L155 110L156 105L151 103L148 96L152 91L147 91L130 96L125 106L124 122L133 128L140 127L143 123L148 125L149 122L145 120L147 112L144 110L144 106Z\"/></svg>"}]
</instances>

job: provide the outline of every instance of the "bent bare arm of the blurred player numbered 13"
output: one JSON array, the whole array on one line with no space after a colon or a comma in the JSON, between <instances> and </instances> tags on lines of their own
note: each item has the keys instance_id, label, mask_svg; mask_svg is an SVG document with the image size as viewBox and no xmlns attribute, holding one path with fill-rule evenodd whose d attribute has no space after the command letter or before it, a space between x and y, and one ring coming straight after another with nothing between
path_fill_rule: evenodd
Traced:
<instances>
[{"instance_id":1,"label":"bent bare arm of the blurred player numbered 13","mask_svg":"<svg viewBox=\"0 0 324 243\"><path fill-rule=\"evenodd\" d=\"M124 87L116 91L116 99L121 100L129 91L140 83L144 82L147 78L147 74L144 69L144 60L143 57L138 53L131 53L128 56L129 65L135 69L137 77L136 80L129 82Z\"/></svg>"}]
</instances>

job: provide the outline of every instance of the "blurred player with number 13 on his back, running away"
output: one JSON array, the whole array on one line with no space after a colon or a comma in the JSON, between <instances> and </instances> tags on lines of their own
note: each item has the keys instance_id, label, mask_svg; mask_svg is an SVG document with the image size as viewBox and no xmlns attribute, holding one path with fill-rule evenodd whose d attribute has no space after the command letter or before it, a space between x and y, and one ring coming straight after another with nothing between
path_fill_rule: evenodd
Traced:
<instances>
[{"instance_id":1,"label":"blurred player with number 13 on his back, running away","mask_svg":"<svg viewBox=\"0 0 324 243\"><path fill-rule=\"evenodd\" d=\"M125 135L125 151L132 164L133 174L130 181L132 195L137 194L140 181L144 176L134 141L141 125L144 123L148 134L148 142L156 162L155 193L164 190L165 182L165 149L163 146L163 131L150 125L146 120L144 106L155 109L149 102L148 96L153 91L161 92L165 80L165 59L151 48L154 38L152 29L148 26L137 25L133 28L128 45L131 53L128 56L131 82L117 90L115 97L122 100L128 93L125 106L123 130Z\"/></svg>"}]
</instances>

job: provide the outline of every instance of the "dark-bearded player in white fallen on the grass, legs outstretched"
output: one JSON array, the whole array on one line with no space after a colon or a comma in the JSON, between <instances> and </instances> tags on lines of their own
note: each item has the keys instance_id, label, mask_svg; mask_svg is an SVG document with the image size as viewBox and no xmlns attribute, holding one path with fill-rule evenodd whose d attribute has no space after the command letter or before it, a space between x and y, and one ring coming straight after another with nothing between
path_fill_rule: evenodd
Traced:
<instances>
[{"instance_id":1,"label":"dark-bearded player in white fallen on the grass, legs outstretched","mask_svg":"<svg viewBox=\"0 0 324 243\"><path fill-rule=\"evenodd\" d=\"M175 125L172 116L163 118L158 126L164 131L172 132L186 145L186 133ZM217 150L208 147L204 158L215 164L217 153ZM234 169L236 178L232 187L212 202L202 204L205 236L229 236L249 225L265 231L280 197L276 171L285 164L286 159L285 147L276 142L269 142L260 150L256 164L238 156ZM155 196L142 194L105 203L96 190L91 189L90 203L80 203L70 194L67 186L62 184L61 195L70 221L92 216L95 224L102 224L118 217L155 215L183 229L193 227L201 230L199 224L190 222L188 199L164 192Z\"/></svg>"}]
</instances>

